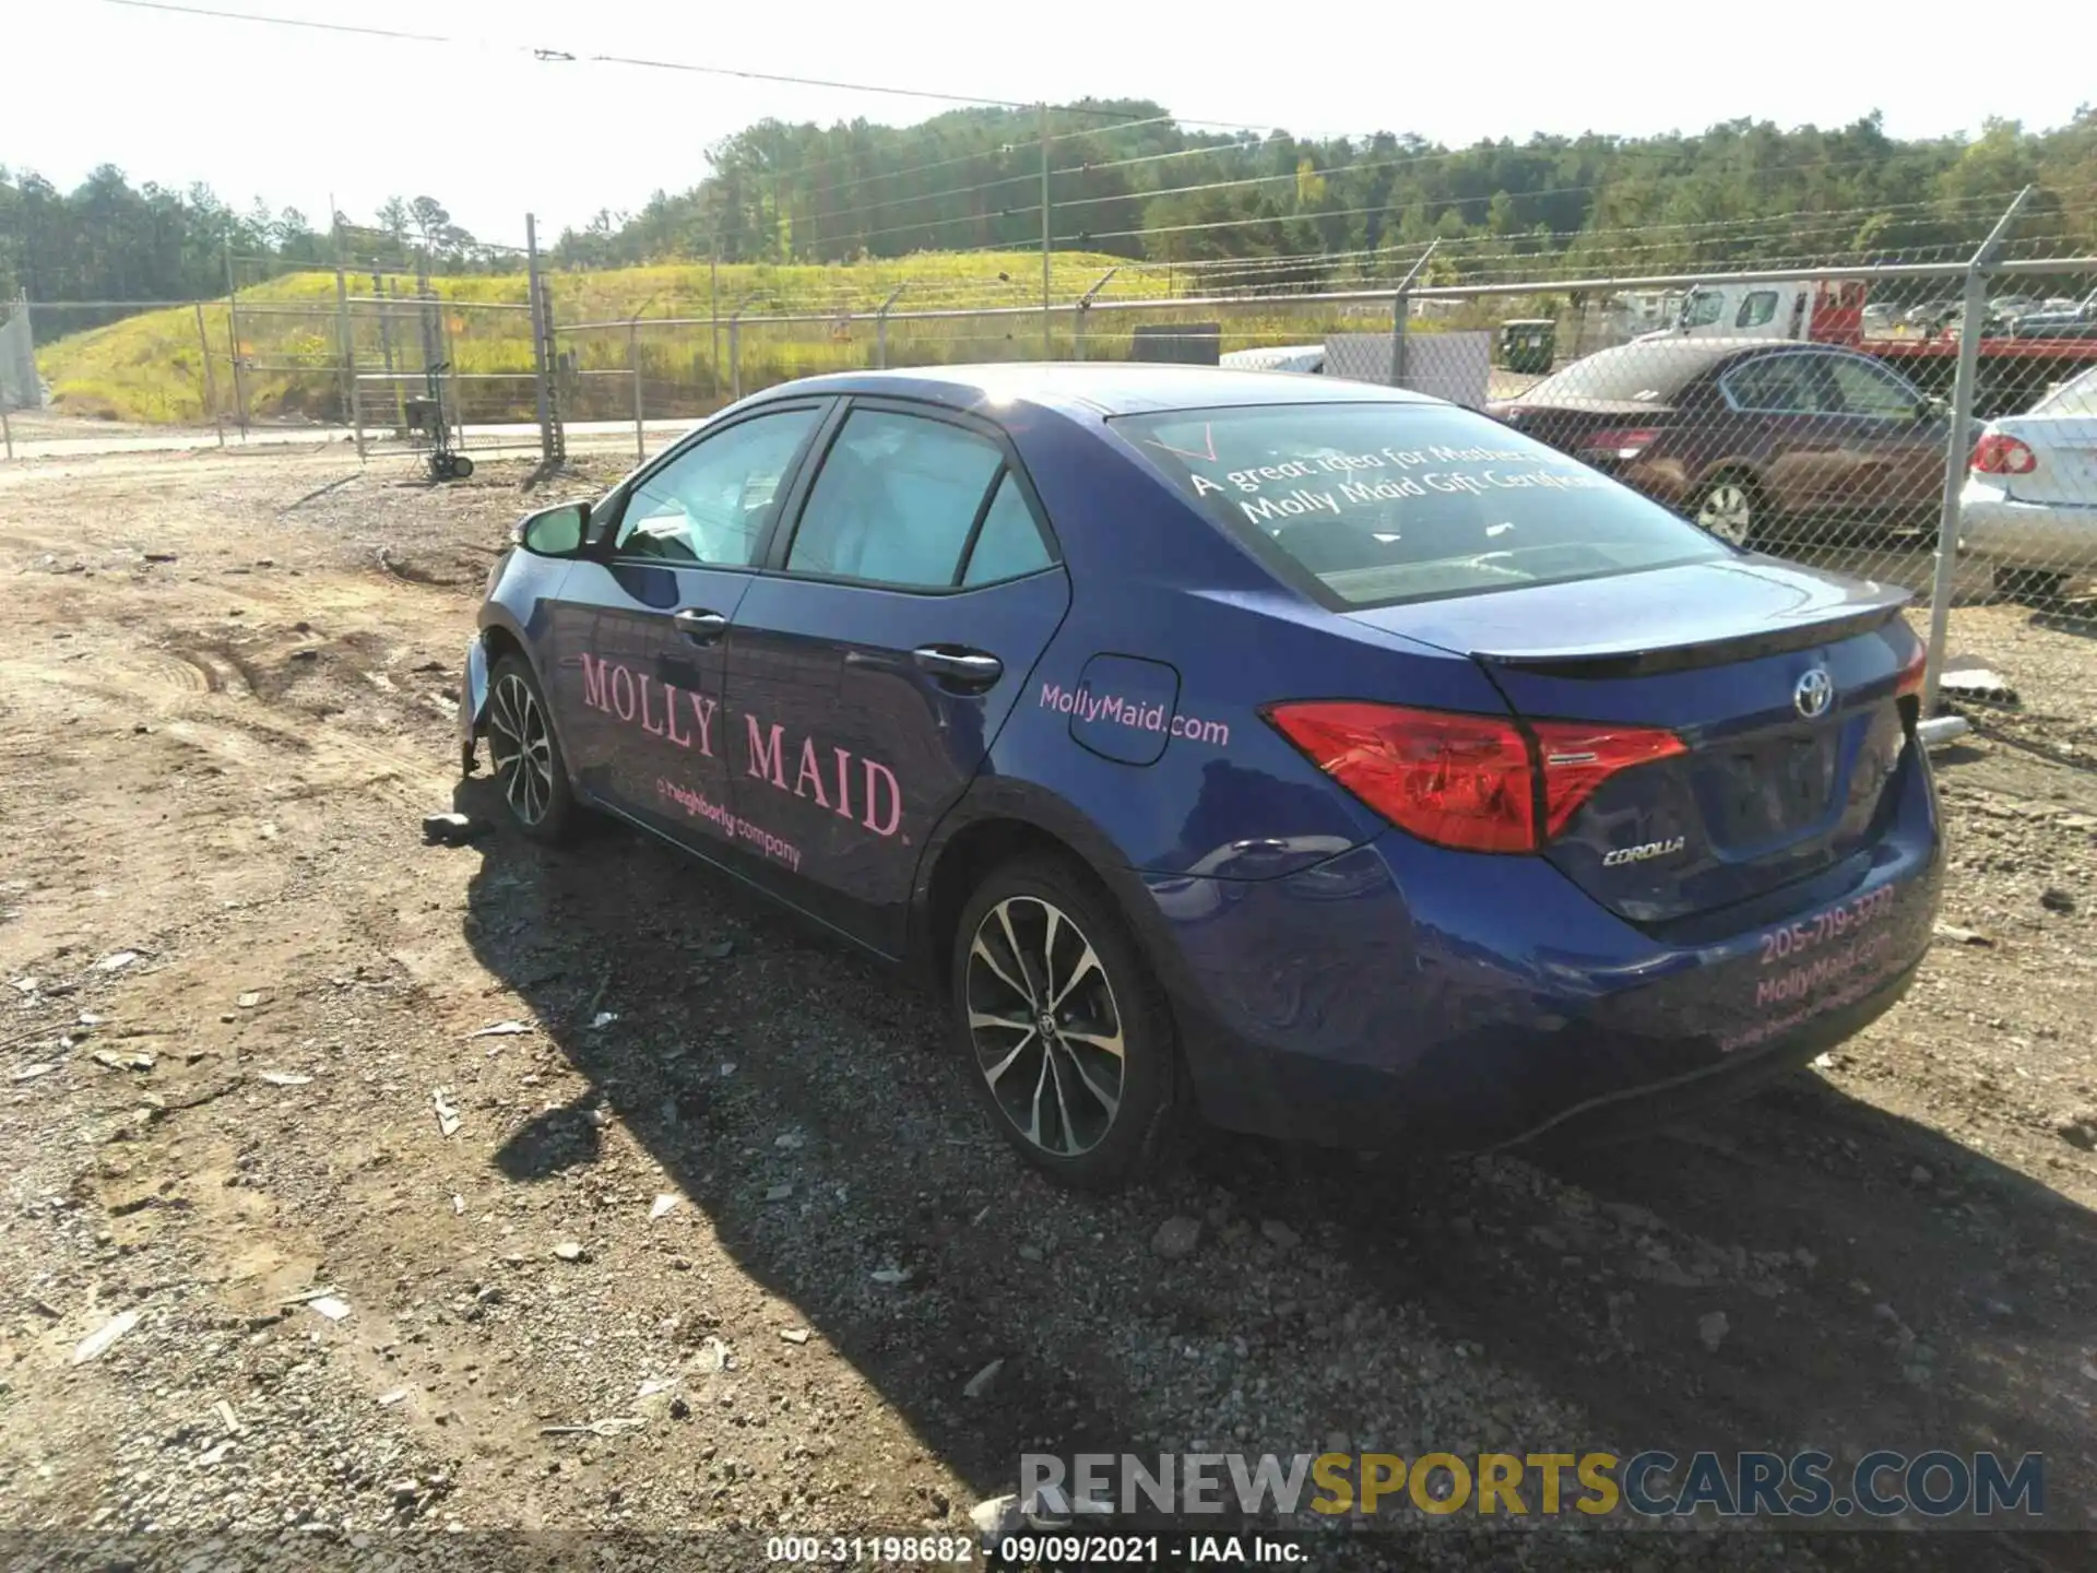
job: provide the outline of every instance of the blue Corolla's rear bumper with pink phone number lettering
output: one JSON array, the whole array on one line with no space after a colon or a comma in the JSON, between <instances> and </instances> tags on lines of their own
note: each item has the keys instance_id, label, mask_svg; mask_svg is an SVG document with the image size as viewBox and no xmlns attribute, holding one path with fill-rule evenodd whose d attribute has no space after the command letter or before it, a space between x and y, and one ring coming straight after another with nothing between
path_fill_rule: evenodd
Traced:
<instances>
[{"instance_id":1,"label":"blue Corolla's rear bumper with pink phone number lettering","mask_svg":"<svg viewBox=\"0 0 2097 1573\"><path fill-rule=\"evenodd\" d=\"M1655 938L1539 858L1399 833L1273 881L1151 879L1199 1103L1267 1135L1476 1149L1736 1095L1912 982L1942 856L1927 774L1904 776L1885 839L1724 938Z\"/></svg>"}]
</instances>

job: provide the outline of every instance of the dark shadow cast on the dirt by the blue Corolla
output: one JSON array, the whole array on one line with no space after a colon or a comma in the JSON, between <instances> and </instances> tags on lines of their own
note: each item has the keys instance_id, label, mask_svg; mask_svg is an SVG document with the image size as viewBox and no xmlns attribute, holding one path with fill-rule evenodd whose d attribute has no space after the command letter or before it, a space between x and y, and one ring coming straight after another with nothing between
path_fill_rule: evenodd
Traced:
<instances>
[{"instance_id":1,"label":"dark shadow cast on the dirt by the blue Corolla","mask_svg":"<svg viewBox=\"0 0 2097 1573\"><path fill-rule=\"evenodd\" d=\"M484 780L457 803L499 812ZM1225 1198L1315 1246L1363 1302L1424 1309L1598 1430L1531 1447L2042 1451L2055 1516L2097 1502L2097 1216L1818 1078L1541 1160L1199 1133L1153 1187L1072 1198L986 1124L931 1000L728 877L610 824L572 849L501 833L461 856L480 858L476 958L589 1084L510 1130L501 1170L587 1168L614 1116L738 1267L979 1495L1013 1487L1021 1451L1139 1443L1109 1359L1128 1319L1317 1357L1329 1328L1244 1326L1151 1254L1164 1216L1216 1219ZM604 1011L619 1019L593 1028ZM1019 1250L1044 1235L1046 1267ZM1069 1254L1090 1256L1082 1288L1057 1267ZM889 1267L908 1281L877 1281ZM965 1399L992 1359L990 1395Z\"/></svg>"}]
</instances>

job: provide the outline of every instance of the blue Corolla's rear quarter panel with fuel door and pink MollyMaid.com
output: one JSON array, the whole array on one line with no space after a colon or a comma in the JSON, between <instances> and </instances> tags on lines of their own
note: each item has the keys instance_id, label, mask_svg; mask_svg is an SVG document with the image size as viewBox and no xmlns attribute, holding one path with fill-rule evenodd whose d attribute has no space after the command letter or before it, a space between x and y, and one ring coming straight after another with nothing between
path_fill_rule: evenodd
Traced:
<instances>
[{"instance_id":1,"label":"blue Corolla's rear quarter panel with fuel door and pink MollyMaid.com","mask_svg":"<svg viewBox=\"0 0 2097 1573\"><path fill-rule=\"evenodd\" d=\"M1109 434L1042 417L1013 432L1055 522L1072 610L990 751L988 774L1034 782L1097 824L1145 872L1264 879L1388 828L1262 717L1288 698L1390 698L1504 709L1464 659L1353 625L1279 585ZM1176 703L1086 688L1095 656L1176 673ZM1122 667L1128 669L1126 665ZM1170 688L1172 684L1168 684ZM1130 698L1143 705L1130 707ZM1134 711L1164 747L1128 763L1082 740Z\"/></svg>"}]
</instances>

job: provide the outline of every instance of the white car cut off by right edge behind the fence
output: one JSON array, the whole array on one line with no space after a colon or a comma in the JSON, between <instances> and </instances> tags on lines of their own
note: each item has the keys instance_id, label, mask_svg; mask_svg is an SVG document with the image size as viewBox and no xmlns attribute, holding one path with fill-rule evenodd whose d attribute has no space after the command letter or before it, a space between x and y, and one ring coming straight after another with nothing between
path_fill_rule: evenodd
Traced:
<instances>
[{"instance_id":1,"label":"white car cut off by right edge behind the fence","mask_svg":"<svg viewBox=\"0 0 2097 1573\"><path fill-rule=\"evenodd\" d=\"M1959 535L2019 598L2053 600L2097 570L2097 367L1982 428Z\"/></svg>"}]
</instances>

